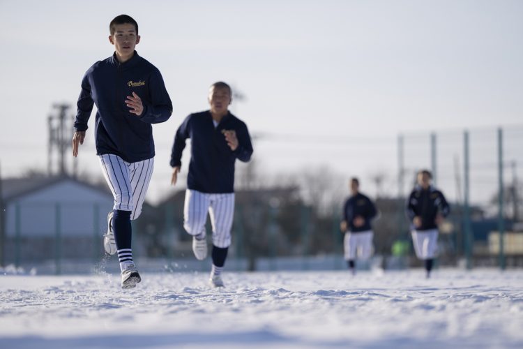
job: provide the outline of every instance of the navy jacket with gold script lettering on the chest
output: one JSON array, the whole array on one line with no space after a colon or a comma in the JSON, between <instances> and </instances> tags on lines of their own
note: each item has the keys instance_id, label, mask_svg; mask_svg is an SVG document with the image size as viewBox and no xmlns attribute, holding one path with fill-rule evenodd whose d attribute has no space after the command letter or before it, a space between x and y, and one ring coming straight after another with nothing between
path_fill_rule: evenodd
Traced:
<instances>
[{"instance_id":1,"label":"navy jacket with gold script lettering on the chest","mask_svg":"<svg viewBox=\"0 0 523 349\"><path fill-rule=\"evenodd\" d=\"M144 111L139 117L129 112L126 97L135 92ZM155 155L151 124L166 121L172 103L158 70L138 53L124 63L116 54L98 61L84 75L78 97L76 131L86 131L96 104L96 154L115 154L135 163Z\"/></svg>"}]
</instances>

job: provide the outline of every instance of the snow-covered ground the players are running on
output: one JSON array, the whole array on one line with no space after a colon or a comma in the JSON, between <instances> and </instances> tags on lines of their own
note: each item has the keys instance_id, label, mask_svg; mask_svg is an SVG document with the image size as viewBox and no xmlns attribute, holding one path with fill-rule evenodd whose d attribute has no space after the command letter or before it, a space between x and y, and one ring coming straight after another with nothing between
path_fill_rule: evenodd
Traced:
<instances>
[{"instance_id":1,"label":"snow-covered ground the players are running on","mask_svg":"<svg viewBox=\"0 0 523 349\"><path fill-rule=\"evenodd\" d=\"M523 270L0 276L0 348L523 348Z\"/></svg>"}]
</instances>

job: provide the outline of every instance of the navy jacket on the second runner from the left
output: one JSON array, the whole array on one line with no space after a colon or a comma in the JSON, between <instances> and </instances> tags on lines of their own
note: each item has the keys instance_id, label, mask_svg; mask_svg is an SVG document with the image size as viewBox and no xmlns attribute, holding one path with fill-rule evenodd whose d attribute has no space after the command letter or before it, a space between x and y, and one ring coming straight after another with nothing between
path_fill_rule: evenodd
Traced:
<instances>
[{"instance_id":1,"label":"navy jacket on the second runner from the left","mask_svg":"<svg viewBox=\"0 0 523 349\"><path fill-rule=\"evenodd\" d=\"M236 131L238 148L232 151L222 130ZM190 163L187 187L202 193L233 193L234 163L247 162L252 144L247 126L229 112L215 128L211 112L190 114L176 131L171 153L171 166L181 166L185 140L190 138Z\"/></svg>"}]
</instances>

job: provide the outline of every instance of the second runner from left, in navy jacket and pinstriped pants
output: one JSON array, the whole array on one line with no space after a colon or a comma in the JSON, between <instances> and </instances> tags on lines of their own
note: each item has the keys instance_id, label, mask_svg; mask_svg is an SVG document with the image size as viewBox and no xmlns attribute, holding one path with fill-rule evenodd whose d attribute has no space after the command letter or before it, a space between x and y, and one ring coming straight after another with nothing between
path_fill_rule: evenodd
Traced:
<instances>
[{"instance_id":1,"label":"second runner from left, in navy jacket and pinstriped pants","mask_svg":"<svg viewBox=\"0 0 523 349\"><path fill-rule=\"evenodd\" d=\"M176 131L170 165L174 186L181 168L185 140L191 140L191 157L183 208L183 228L192 235L198 260L207 256L207 212L213 228L212 270L209 283L223 287L222 268L231 244L234 217L234 164L248 162L252 144L247 126L229 112L232 90L225 82L211 85L210 110L190 114Z\"/></svg>"}]
</instances>

